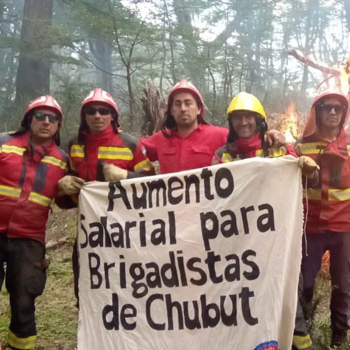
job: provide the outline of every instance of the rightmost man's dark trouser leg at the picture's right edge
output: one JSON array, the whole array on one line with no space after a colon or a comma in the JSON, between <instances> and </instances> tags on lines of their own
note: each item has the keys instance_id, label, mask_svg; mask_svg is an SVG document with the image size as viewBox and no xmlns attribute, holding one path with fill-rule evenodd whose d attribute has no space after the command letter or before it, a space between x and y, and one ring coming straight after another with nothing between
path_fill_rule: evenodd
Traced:
<instances>
[{"instance_id":1,"label":"rightmost man's dark trouser leg at the picture's right edge","mask_svg":"<svg viewBox=\"0 0 350 350\"><path fill-rule=\"evenodd\" d=\"M332 280L331 328L346 331L350 320L350 233L328 231Z\"/></svg>"}]
</instances>

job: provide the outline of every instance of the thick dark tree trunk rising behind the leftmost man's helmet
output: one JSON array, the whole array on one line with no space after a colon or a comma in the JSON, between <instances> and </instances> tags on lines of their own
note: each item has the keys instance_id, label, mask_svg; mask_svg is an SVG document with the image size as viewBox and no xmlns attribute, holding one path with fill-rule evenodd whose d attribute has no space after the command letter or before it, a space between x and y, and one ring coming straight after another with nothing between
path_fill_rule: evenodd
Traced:
<instances>
[{"instance_id":1,"label":"thick dark tree trunk rising behind the leftmost man's helmet","mask_svg":"<svg viewBox=\"0 0 350 350\"><path fill-rule=\"evenodd\" d=\"M23 110L30 100L50 93L52 15L53 0L25 0L16 81L16 110Z\"/></svg>"}]
</instances>

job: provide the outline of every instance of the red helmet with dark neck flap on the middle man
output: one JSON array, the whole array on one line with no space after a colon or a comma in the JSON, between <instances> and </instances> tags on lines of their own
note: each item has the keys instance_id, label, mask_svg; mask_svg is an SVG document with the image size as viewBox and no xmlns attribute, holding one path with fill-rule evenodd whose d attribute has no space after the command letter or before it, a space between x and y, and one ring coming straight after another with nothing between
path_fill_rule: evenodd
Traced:
<instances>
[{"instance_id":1,"label":"red helmet with dark neck flap on the middle man","mask_svg":"<svg viewBox=\"0 0 350 350\"><path fill-rule=\"evenodd\" d=\"M180 92L189 92L192 95L194 95L197 101L198 107L200 107L198 123L207 124L207 122L204 120L204 102L203 102L202 95L197 90L197 88L195 88L194 85L192 85L192 83L188 82L186 79L181 79L169 92L168 102L167 102L168 109L166 111L166 118L164 122L165 126L168 129L174 129L174 127L176 127L176 123L175 123L174 117L171 115L170 108L173 104L175 94Z\"/></svg>"}]
</instances>

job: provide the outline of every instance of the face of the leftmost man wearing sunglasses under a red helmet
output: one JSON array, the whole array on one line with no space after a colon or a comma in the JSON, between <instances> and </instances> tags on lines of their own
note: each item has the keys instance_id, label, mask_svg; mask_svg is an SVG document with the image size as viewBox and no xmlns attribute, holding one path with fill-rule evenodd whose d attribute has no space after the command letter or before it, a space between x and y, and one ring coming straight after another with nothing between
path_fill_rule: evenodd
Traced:
<instances>
[{"instance_id":1,"label":"face of the leftmost man wearing sunglasses under a red helmet","mask_svg":"<svg viewBox=\"0 0 350 350\"><path fill-rule=\"evenodd\" d=\"M39 121L35 118L35 113L57 114L55 110L50 108L37 108L33 112L32 122L30 124L30 138L35 144L42 144L51 140L59 129L58 121L54 123L49 121L49 117L45 116L44 120Z\"/></svg>"}]
</instances>

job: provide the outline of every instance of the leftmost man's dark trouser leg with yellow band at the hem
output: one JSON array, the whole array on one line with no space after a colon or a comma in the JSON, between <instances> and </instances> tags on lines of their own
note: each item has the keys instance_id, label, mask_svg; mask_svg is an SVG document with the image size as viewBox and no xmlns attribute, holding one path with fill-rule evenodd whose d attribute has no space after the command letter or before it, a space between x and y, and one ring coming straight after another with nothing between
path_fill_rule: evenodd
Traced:
<instances>
[{"instance_id":1,"label":"leftmost man's dark trouser leg with yellow band at the hem","mask_svg":"<svg viewBox=\"0 0 350 350\"><path fill-rule=\"evenodd\" d=\"M6 288L10 294L11 322L7 337L12 349L36 344L35 298L45 288L46 271L40 267L45 245L30 239L9 239Z\"/></svg>"}]
</instances>

